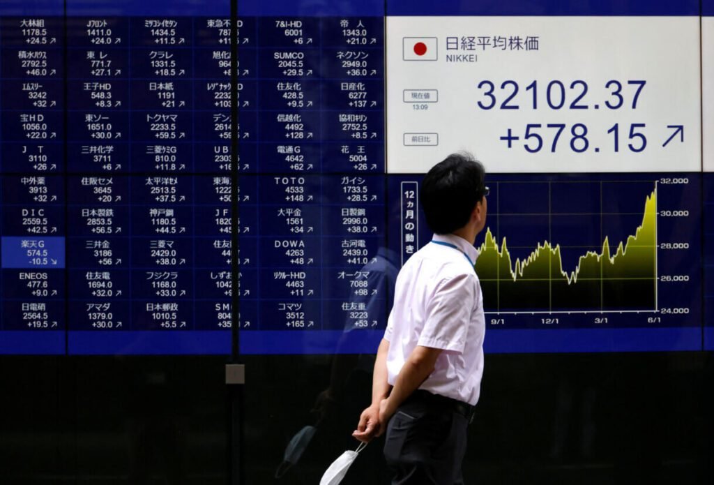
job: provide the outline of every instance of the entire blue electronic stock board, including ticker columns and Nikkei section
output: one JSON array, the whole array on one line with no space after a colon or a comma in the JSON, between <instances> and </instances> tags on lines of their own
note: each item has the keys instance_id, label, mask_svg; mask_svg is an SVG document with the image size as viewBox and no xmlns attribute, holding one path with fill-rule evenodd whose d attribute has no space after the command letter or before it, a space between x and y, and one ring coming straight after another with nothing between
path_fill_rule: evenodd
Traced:
<instances>
[{"instance_id":1,"label":"entire blue electronic stock board, including ticker columns and Nikkei section","mask_svg":"<svg viewBox=\"0 0 714 485\"><path fill-rule=\"evenodd\" d=\"M714 2L665 3L3 2L0 353L373 353L459 150L487 351L712 349Z\"/></svg>"}]
</instances>

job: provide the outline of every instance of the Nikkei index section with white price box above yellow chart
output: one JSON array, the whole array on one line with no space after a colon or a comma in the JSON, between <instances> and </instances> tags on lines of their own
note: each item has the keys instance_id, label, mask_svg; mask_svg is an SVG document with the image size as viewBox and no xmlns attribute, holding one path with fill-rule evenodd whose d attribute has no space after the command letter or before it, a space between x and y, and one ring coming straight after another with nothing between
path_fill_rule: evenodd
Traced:
<instances>
[{"instance_id":1,"label":"Nikkei index section with white price box above yellow chart","mask_svg":"<svg viewBox=\"0 0 714 485\"><path fill-rule=\"evenodd\" d=\"M488 351L701 349L698 5L420 7L388 6L391 248L428 241L417 174L467 150Z\"/></svg>"}]
</instances>

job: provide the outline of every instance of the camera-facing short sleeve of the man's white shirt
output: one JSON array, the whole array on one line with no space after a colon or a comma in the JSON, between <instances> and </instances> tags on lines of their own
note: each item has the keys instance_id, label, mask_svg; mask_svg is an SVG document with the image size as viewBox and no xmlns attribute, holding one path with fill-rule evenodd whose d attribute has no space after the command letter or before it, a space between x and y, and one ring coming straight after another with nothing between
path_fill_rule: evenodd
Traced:
<instances>
[{"instance_id":1,"label":"camera-facing short sleeve of the man's white shirt","mask_svg":"<svg viewBox=\"0 0 714 485\"><path fill-rule=\"evenodd\" d=\"M461 354L466 346L475 298L473 276L459 274L441 280L426 306L418 345Z\"/></svg>"}]
</instances>

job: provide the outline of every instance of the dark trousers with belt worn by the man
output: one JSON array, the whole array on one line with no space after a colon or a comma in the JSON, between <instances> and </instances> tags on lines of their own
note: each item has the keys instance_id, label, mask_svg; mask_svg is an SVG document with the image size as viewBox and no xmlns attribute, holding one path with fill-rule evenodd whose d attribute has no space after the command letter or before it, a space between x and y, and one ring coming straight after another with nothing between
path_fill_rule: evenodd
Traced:
<instances>
[{"instance_id":1,"label":"dark trousers with belt worn by the man","mask_svg":"<svg viewBox=\"0 0 714 485\"><path fill-rule=\"evenodd\" d=\"M384 457L392 485L463 484L467 426L451 401L416 391L387 426Z\"/></svg>"}]
</instances>

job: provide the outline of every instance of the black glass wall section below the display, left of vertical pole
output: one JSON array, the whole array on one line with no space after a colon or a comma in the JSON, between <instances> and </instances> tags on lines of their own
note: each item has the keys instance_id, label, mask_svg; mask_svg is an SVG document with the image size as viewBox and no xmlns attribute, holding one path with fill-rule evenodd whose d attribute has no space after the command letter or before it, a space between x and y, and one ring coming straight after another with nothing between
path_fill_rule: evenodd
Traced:
<instances>
[{"instance_id":1,"label":"black glass wall section below the display, left of vertical pole","mask_svg":"<svg viewBox=\"0 0 714 485\"><path fill-rule=\"evenodd\" d=\"M3 482L225 484L224 364L3 357Z\"/></svg>"}]
</instances>

